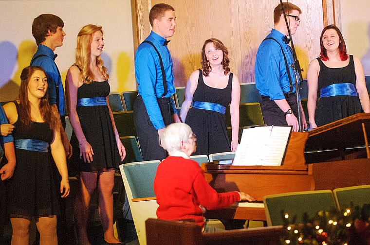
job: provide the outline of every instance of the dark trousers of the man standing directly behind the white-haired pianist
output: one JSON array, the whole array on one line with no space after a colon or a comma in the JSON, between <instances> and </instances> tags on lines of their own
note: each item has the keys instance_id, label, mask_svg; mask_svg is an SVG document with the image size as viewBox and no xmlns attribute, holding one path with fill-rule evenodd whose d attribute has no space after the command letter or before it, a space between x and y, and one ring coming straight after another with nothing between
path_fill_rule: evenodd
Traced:
<instances>
[{"instance_id":1,"label":"dark trousers of the man standing directly behind the white-haired pianist","mask_svg":"<svg viewBox=\"0 0 370 245\"><path fill-rule=\"evenodd\" d=\"M170 98L158 98L158 105L165 125L172 123ZM147 108L143 98L139 95L133 105L133 120L139 138L140 149L144 161L163 160L167 157L166 151L159 145L158 130L154 128L150 121Z\"/></svg>"}]
</instances>

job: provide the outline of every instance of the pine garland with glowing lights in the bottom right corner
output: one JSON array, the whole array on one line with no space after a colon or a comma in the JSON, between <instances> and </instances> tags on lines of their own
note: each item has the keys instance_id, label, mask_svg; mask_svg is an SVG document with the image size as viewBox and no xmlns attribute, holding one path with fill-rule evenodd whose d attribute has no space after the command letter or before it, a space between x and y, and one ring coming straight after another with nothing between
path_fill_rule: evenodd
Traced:
<instances>
[{"instance_id":1,"label":"pine garland with glowing lights in the bottom right corner","mask_svg":"<svg viewBox=\"0 0 370 245\"><path fill-rule=\"evenodd\" d=\"M285 234L281 245L370 245L370 204L345 209L321 210L314 217L302 215L302 223L296 224L296 216L281 212Z\"/></svg>"}]
</instances>

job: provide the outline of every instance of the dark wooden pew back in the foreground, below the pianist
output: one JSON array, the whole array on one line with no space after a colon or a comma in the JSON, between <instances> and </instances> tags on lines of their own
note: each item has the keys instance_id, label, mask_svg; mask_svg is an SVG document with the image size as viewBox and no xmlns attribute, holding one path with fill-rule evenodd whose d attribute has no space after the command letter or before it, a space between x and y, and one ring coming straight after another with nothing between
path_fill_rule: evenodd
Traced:
<instances>
[{"instance_id":1,"label":"dark wooden pew back in the foreground, below the pianist","mask_svg":"<svg viewBox=\"0 0 370 245\"><path fill-rule=\"evenodd\" d=\"M194 222L148 219L147 245L279 245L282 226L202 233Z\"/></svg>"}]
</instances>

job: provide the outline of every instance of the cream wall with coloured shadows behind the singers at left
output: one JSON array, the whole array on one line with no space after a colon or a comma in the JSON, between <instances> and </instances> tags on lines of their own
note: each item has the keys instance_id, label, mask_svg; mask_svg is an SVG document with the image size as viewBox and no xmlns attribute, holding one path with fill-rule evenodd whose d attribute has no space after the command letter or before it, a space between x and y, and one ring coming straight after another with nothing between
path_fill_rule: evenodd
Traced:
<instances>
[{"instance_id":1,"label":"cream wall with coloured shadows behind the singers at left","mask_svg":"<svg viewBox=\"0 0 370 245\"><path fill-rule=\"evenodd\" d=\"M0 101L18 97L20 71L30 64L37 46L32 21L51 13L64 21L66 36L56 48L62 80L74 63L78 31L86 24L101 25L102 58L110 73L112 91L136 89L130 0L0 0Z\"/></svg>"}]
</instances>

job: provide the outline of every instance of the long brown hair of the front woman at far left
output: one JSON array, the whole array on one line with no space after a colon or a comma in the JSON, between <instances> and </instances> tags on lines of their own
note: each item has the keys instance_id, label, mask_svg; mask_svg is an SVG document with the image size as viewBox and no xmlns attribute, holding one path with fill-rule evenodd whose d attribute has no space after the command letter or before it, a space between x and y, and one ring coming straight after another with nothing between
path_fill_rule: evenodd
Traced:
<instances>
[{"instance_id":1,"label":"long brown hair of the front woman at far left","mask_svg":"<svg viewBox=\"0 0 370 245\"><path fill-rule=\"evenodd\" d=\"M20 88L19 88L19 108L18 108L18 114L19 118L22 123L26 127L29 127L31 125L31 103L28 100L28 83L31 80L32 75L36 70L41 70L42 72L46 72L42 67L39 66L28 66L22 70L22 73L20 74ZM44 122L49 124L50 129L56 129L56 127L60 124L58 122L59 116L56 113L56 111L52 108L52 106L49 104L48 100L48 93L46 92L44 97L41 98L40 105L40 114L44 120Z\"/></svg>"}]
</instances>

